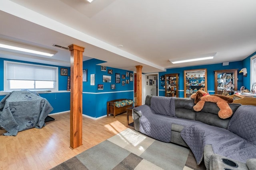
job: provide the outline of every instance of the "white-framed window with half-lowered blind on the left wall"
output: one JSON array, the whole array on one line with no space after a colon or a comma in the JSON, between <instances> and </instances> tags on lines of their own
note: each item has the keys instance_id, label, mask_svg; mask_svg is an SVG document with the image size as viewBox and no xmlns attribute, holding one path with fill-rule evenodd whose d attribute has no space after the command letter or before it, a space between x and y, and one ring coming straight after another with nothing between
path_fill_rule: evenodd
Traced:
<instances>
[{"instance_id":1,"label":"white-framed window with half-lowered blind on the left wall","mask_svg":"<svg viewBox=\"0 0 256 170\"><path fill-rule=\"evenodd\" d=\"M4 91L58 91L58 67L4 61Z\"/></svg>"}]
</instances>

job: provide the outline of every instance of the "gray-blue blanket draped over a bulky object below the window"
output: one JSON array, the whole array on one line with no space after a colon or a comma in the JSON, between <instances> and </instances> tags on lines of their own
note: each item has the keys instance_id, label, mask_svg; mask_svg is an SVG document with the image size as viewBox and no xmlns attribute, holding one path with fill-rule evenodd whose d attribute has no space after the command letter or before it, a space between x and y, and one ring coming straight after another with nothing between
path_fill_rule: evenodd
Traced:
<instances>
[{"instance_id":1,"label":"gray-blue blanket draped over a bulky object below the window","mask_svg":"<svg viewBox=\"0 0 256 170\"><path fill-rule=\"evenodd\" d=\"M44 119L53 110L50 103L29 91L13 91L0 102L0 127L6 136L33 127L42 128Z\"/></svg>"}]
</instances>

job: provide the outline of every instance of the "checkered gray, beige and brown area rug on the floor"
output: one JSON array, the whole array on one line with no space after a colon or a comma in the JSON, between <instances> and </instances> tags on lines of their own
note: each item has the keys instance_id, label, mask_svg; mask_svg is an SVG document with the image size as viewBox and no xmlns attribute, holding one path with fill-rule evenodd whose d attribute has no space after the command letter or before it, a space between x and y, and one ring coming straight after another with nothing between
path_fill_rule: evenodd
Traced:
<instances>
[{"instance_id":1,"label":"checkered gray, beige and brown area rug on the floor","mask_svg":"<svg viewBox=\"0 0 256 170\"><path fill-rule=\"evenodd\" d=\"M52 170L205 170L192 152L126 129Z\"/></svg>"}]
</instances>

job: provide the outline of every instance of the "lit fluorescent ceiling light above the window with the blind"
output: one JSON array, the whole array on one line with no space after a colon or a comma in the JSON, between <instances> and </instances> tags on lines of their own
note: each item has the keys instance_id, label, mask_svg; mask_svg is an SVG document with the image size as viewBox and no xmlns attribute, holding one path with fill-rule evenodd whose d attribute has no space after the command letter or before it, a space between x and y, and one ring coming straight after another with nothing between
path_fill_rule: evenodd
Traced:
<instances>
[{"instance_id":1,"label":"lit fluorescent ceiling light above the window with the blind","mask_svg":"<svg viewBox=\"0 0 256 170\"><path fill-rule=\"evenodd\" d=\"M56 51L42 49L40 47L34 47L31 45L26 45L26 44L22 44L22 43L6 41L6 40L2 40L2 39L0 39L0 48L11 49L11 50L16 50L16 51L23 51L23 52L39 54L39 55L45 55L48 57L52 57L54 54L57 53Z\"/></svg>"}]
</instances>

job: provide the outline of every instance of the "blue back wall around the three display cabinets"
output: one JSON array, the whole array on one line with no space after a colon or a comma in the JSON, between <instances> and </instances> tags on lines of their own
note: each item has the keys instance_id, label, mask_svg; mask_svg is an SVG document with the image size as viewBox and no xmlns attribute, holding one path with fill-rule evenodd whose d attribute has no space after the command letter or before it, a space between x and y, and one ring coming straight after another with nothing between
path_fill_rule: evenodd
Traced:
<instances>
[{"instance_id":1,"label":"blue back wall around the three display cabinets","mask_svg":"<svg viewBox=\"0 0 256 170\"><path fill-rule=\"evenodd\" d=\"M214 70L227 70L227 69L238 69L238 72L243 68L242 61L230 62L228 66L222 66L220 64L209 64L202 66L190 66L190 67L182 67L182 68L171 68L167 69L166 72L159 72L159 80L160 76L164 74L172 74L179 73L179 97L184 97L184 70L193 70L193 69L207 69L207 92L209 94L214 94ZM161 81L160 83L161 84ZM238 89L243 85L243 76L242 73L238 73ZM165 96L165 91L163 86L159 86L159 96Z\"/></svg>"}]
</instances>

